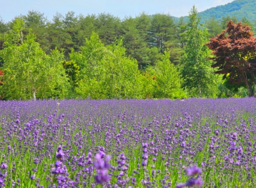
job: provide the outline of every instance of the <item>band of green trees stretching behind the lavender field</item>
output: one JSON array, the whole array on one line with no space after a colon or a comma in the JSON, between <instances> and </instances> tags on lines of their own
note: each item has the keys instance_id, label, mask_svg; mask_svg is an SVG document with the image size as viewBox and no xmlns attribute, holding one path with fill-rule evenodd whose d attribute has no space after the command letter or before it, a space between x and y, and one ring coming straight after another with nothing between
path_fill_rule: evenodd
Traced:
<instances>
[{"instance_id":1,"label":"band of green trees stretching behind the lavender field","mask_svg":"<svg viewBox=\"0 0 256 188\"><path fill-rule=\"evenodd\" d=\"M1 20L1 99L251 96L252 79L231 82L232 70L212 66L219 54L212 55L210 37L226 31L230 19L211 18L202 25L193 7L189 21L178 23L167 14L145 13L120 20L68 12L48 21L37 11ZM237 58L252 61L253 53Z\"/></svg>"}]
</instances>

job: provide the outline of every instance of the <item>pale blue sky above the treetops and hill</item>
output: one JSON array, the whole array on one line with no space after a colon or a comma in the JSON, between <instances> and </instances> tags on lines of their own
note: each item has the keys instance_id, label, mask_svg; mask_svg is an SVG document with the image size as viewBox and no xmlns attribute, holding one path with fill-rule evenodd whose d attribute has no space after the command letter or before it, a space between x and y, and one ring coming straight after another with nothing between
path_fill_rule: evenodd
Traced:
<instances>
[{"instance_id":1,"label":"pale blue sky above the treetops and hill","mask_svg":"<svg viewBox=\"0 0 256 188\"><path fill-rule=\"evenodd\" d=\"M0 17L11 21L15 16L27 14L29 10L39 11L51 20L56 12L65 15L68 11L78 14L110 13L123 19L147 14L169 13L181 17L188 15L195 5L199 12L234 0L3 0L0 3Z\"/></svg>"}]
</instances>

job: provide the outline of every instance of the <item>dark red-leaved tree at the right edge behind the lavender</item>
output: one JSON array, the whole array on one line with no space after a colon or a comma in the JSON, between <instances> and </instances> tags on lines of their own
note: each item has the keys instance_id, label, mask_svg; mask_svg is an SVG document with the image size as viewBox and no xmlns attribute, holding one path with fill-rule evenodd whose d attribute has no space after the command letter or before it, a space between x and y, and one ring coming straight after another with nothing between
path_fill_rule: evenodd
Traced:
<instances>
[{"instance_id":1,"label":"dark red-leaved tree at the right edge behind the lavender","mask_svg":"<svg viewBox=\"0 0 256 188\"><path fill-rule=\"evenodd\" d=\"M249 96L255 96L256 81L256 37L250 27L229 21L227 29L211 38L207 43L213 50L215 73L228 76L230 84L244 83Z\"/></svg>"}]
</instances>

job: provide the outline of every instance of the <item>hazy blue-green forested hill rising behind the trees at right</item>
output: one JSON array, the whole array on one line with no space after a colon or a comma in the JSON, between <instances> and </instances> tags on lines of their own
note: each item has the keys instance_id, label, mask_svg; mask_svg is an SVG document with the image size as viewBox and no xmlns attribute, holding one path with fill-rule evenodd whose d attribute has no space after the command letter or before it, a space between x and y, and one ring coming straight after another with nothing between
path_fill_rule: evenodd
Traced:
<instances>
[{"instance_id":1,"label":"hazy blue-green forested hill rising behind the trees at right","mask_svg":"<svg viewBox=\"0 0 256 188\"><path fill-rule=\"evenodd\" d=\"M201 22L205 23L211 17L221 19L222 17L229 16L230 18L236 17L238 20L246 17L249 21L253 22L256 18L256 0L235 0L226 5L221 5L213 8L209 8L205 11L199 12ZM175 18L176 21L179 18ZM184 20L188 20L187 17Z\"/></svg>"}]
</instances>

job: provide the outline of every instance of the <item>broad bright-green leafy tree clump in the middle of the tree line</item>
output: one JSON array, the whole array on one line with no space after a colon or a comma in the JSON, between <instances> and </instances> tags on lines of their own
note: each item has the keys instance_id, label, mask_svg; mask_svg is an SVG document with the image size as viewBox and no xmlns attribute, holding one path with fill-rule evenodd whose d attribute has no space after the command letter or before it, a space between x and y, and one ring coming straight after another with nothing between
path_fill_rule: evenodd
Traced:
<instances>
[{"instance_id":1,"label":"broad bright-green leafy tree clump in the middle of the tree line","mask_svg":"<svg viewBox=\"0 0 256 188\"><path fill-rule=\"evenodd\" d=\"M137 90L141 84L137 81L137 77L141 79L137 62L125 56L122 40L105 47L92 33L81 51L73 52L70 58L80 67L76 91L82 98L142 98Z\"/></svg>"}]
</instances>

